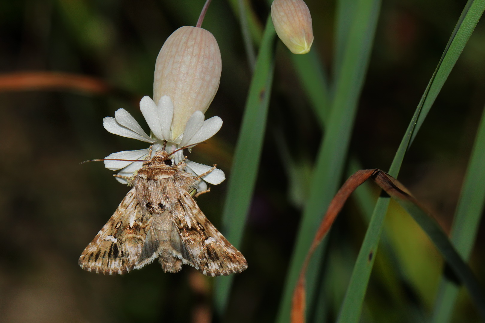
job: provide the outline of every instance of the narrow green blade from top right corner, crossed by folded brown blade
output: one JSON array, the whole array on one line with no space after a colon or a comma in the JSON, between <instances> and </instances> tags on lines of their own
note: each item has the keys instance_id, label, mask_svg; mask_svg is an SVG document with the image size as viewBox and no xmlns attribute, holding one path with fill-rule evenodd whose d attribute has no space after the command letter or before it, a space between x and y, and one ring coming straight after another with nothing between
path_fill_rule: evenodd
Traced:
<instances>
[{"instance_id":1,"label":"narrow green blade from top right corner, crossed by folded brown blade","mask_svg":"<svg viewBox=\"0 0 485 323\"><path fill-rule=\"evenodd\" d=\"M404 159L404 154L412 140L420 129L420 126L432 107L438 92L441 90L444 82L448 78L451 69L458 60L458 57L465 47L471 32L476 26L484 10L485 0L470 0L465 6L462 16L448 41L442 58L436 67L435 73L421 98L421 101L413 115L411 122L404 134L404 138L399 145L394 160L389 169L389 174L397 177L399 169ZM347 288L339 314L339 323L358 322L362 304L364 302L365 292L369 283L369 277L372 271L372 265L377 251L377 246L382 231L384 218L388 209L389 198L380 197L374 208L372 219L367 229L364 241L357 256L356 265Z\"/></svg>"}]
</instances>

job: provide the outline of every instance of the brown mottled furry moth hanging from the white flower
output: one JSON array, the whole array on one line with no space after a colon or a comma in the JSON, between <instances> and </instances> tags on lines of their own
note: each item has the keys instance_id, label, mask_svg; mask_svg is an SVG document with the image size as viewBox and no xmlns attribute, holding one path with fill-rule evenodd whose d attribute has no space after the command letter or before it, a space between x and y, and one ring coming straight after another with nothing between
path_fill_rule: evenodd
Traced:
<instances>
[{"instance_id":1,"label":"brown mottled furry moth hanging from the white flower","mask_svg":"<svg viewBox=\"0 0 485 323\"><path fill-rule=\"evenodd\" d=\"M215 166L214 166L215 167ZM214 168L212 168L214 169ZM188 264L208 276L247 268L241 252L210 223L193 196L200 178L161 150L128 179L131 190L94 240L79 265L102 274L125 274L158 258L165 272Z\"/></svg>"}]
</instances>

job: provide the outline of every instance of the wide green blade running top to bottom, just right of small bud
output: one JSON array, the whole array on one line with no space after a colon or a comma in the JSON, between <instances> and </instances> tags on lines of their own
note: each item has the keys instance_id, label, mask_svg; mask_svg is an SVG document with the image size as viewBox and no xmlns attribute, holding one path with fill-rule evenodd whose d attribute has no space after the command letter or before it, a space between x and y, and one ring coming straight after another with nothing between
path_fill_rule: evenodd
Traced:
<instances>
[{"instance_id":1,"label":"wide green blade running top to bottom, just right of small bud","mask_svg":"<svg viewBox=\"0 0 485 323\"><path fill-rule=\"evenodd\" d=\"M293 250L277 321L289 322L291 294L320 217L337 191L347 156L358 97L367 70L372 40L380 8L379 0L359 0L346 44L336 85L335 99L321 144L310 196L307 201ZM317 253L318 255L318 253ZM314 295L318 256L313 257L307 275L307 294ZM312 300L308 299L308 304Z\"/></svg>"}]
</instances>

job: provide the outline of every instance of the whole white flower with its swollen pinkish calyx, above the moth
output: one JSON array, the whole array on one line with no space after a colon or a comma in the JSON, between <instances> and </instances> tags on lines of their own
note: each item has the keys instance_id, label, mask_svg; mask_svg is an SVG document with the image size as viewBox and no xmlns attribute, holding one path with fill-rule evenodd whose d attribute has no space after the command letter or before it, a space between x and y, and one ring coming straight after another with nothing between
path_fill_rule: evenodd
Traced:
<instances>
[{"instance_id":1,"label":"whole white flower with its swollen pinkish calyx, above the moth","mask_svg":"<svg viewBox=\"0 0 485 323\"><path fill-rule=\"evenodd\" d=\"M109 132L123 137L145 141L152 146L152 155L163 148L167 153L181 147L203 142L212 137L222 126L219 117L204 121L219 87L221 78L221 52L214 36L202 28L183 26L165 41L155 63L153 98L143 97L140 109L150 127L148 136L136 120L124 109L115 112L114 118L104 118ZM155 102L154 102L155 101ZM148 148L111 154L106 159L144 160ZM175 163L184 158L180 150L172 155ZM185 160L187 171L198 176L211 169L210 166ZM130 177L140 169L142 162L106 160L106 168L119 170L118 175ZM123 178L116 177L121 183ZM220 169L214 169L202 178L217 185L226 178ZM201 181L198 190L207 185Z\"/></svg>"}]
</instances>

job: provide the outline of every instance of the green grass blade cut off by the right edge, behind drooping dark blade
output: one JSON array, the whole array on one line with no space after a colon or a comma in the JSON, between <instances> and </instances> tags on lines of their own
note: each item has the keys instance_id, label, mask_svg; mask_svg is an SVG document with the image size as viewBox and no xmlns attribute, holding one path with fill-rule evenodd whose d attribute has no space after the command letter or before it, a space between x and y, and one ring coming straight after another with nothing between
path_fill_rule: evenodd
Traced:
<instances>
[{"instance_id":1,"label":"green grass blade cut off by the right edge, behind drooping dark blade","mask_svg":"<svg viewBox=\"0 0 485 323\"><path fill-rule=\"evenodd\" d=\"M485 111L478 127L467 174L454 216L451 241L467 261L477 236L478 225L485 203ZM443 278L433 312L433 323L450 322L458 286Z\"/></svg>"}]
</instances>

